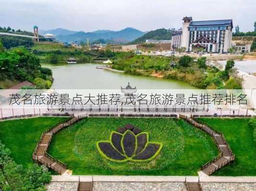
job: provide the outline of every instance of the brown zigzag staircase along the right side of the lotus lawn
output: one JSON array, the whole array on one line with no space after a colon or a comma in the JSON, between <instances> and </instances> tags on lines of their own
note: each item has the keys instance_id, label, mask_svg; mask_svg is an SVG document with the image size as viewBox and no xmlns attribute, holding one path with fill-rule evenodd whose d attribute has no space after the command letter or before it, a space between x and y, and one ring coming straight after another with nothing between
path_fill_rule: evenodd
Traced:
<instances>
[{"instance_id":1,"label":"brown zigzag staircase along the right side of the lotus lawn","mask_svg":"<svg viewBox=\"0 0 256 191\"><path fill-rule=\"evenodd\" d=\"M197 127L209 134L215 140L215 143L220 151L220 154L215 159L209 161L201 167L202 172L210 176L215 171L221 169L223 166L230 164L235 160L235 155L233 154L228 142L221 132L212 129L207 125L199 123L195 118L186 117L183 115L180 115L180 118L186 120L194 127Z\"/></svg>"}]
</instances>

